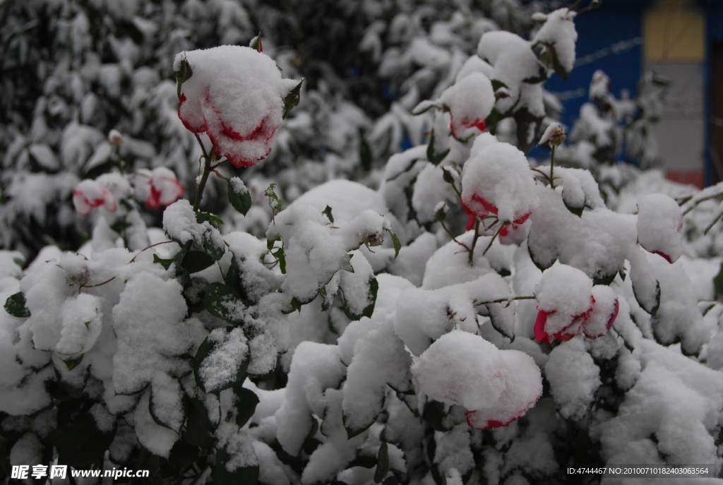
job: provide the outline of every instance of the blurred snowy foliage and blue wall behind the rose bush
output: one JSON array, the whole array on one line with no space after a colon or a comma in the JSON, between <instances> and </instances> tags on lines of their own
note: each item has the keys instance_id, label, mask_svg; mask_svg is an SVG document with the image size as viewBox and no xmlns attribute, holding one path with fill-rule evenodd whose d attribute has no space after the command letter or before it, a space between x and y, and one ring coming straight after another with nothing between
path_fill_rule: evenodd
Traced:
<instances>
[{"instance_id":1,"label":"blurred snowy foliage and blue wall behind the rose bush","mask_svg":"<svg viewBox=\"0 0 723 485\"><path fill-rule=\"evenodd\" d=\"M176 115L176 53L244 46L262 32L283 76L305 80L268 160L229 169L257 208L225 213L226 197L214 197L225 185L207 187L205 210L228 219L227 230L262 234L270 182L287 201L337 178L376 189L390 155L427 142L429 117L412 108L453 84L484 33L529 39L535 12L589 3L0 0L0 247L28 257L48 244L77 249L93 226L75 213L72 191L116 170L119 157L129 171L171 168L194 196L200 148ZM532 126L539 137L560 119L562 164L596 176L619 162L660 168L699 188L723 179L723 0L603 0L576 26L576 67L544 84L544 117L510 116L497 136L544 163L549 153L518 134ZM111 129L124 136L120 153ZM610 181L612 192L627 180ZM161 213L147 210L145 223L160 225Z\"/></svg>"}]
</instances>

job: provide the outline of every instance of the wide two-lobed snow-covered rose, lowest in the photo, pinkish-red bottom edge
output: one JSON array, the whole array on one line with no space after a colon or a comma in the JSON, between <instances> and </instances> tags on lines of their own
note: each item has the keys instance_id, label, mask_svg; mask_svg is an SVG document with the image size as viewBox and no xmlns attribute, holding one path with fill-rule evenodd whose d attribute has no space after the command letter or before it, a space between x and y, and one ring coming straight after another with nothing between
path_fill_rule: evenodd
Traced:
<instances>
[{"instance_id":1,"label":"wide two-lobed snow-covered rose, lowest in the photo, pinkish-red bottom edge","mask_svg":"<svg viewBox=\"0 0 723 485\"><path fill-rule=\"evenodd\" d=\"M442 335L411 370L422 392L466 408L468 424L477 429L510 424L542 395L542 376L530 356L500 351L463 330Z\"/></svg>"}]
</instances>

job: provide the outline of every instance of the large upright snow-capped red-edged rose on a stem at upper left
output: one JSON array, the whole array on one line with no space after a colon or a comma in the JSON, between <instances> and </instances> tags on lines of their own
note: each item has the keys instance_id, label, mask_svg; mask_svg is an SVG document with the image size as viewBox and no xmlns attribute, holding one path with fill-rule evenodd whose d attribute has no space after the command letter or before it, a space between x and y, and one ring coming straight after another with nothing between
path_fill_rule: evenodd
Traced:
<instances>
[{"instance_id":1,"label":"large upright snow-capped red-edged rose on a stem at upper left","mask_svg":"<svg viewBox=\"0 0 723 485\"><path fill-rule=\"evenodd\" d=\"M187 64L184 64L187 63ZM208 134L217 156L249 167L271 152L284 115L284 98L299 85L281 78L276 63L253 48L219 46L176 55L187 65L179 118L194 133Z\"/></svg>"}]
</instances>

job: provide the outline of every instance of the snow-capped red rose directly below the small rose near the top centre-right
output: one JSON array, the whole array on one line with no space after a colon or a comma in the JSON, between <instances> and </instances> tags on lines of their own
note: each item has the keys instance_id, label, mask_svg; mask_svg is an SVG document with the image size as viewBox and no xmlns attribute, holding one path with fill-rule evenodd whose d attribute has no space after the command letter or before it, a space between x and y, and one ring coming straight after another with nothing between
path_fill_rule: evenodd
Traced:
<instances>
[{"instance_id":1,"label":"snow-capped red rose directly below the small rose near the top centre-right","mask_svg":"<svg viewBox=\"0 0 723 485\"><path fill-rule=\"evenodd\" d=\"M474 140L462 173L462 205L482 218L523 224L537 203L535 182L525 155L488 133Z\"/></svg>"}]
</instances>

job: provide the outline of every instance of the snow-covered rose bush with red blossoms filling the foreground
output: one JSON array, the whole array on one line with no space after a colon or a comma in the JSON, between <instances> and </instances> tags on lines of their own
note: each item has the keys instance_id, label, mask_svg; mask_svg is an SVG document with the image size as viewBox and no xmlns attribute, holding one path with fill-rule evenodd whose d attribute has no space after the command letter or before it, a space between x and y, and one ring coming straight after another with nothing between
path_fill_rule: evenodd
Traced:
<instances>
[{"instance_id":1,"label":"snow-covered rose bush with red blossoms filling the foreground","mask_svg":"<svg viewBox=\"0 0 723 485\"><path fill-rule=\"evenodd\" d=\"M80 254L49 246L22 269L0 252L0 473L60 463L214 484L562 484L568 466L716 463L720 345L706 342L719 306L703 317L707 287L689 284L690 261L654 254L690 252L675 201L636 197L637 214L635 203L613 212L591 172L555 159L562 126L544 129L542 82L574 65L574 13L536 16L532 41L469 12L429 35L415 30L428 17L406 13L382 22L386 33L370 27L372 47L408 35L385 72L422 66L393 107L419 144L365 179L378 189L332 181L301 194L299 171L236 171L267 153L292 82L245 48L181 54L178 114L202 154L193 200L172 200L172 173L139 168L155 159L127 160L130 137L100 136L89 165L112 168L82 186L105 189L116 210L93 213L109 198L87 191ZM465 32L476 37L458 43ZM298 59L277 54L291 75ZM434 112L412 119L437 76ZM176 93L164 93L181 125ZM319 93L309 98L322 111ZM356 137L359 111L337 108L328 139L349 126ZM313 132L309 113L320 116L284 126ZM380 120L377 134L399 126ZM513 145L546 132L555 150L531 166ZM356 163L331 153L339 146L329 173ZM145 207L166 202L163 229L147 228Z\"/></svg>"}]
</instances>

